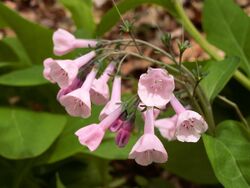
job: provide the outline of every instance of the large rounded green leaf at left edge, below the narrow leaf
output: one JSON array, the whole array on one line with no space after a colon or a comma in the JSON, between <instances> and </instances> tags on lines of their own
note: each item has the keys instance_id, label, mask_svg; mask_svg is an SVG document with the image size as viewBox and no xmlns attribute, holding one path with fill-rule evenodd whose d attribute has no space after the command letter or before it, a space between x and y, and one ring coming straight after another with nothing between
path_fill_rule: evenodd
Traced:
<instances>
[{"instance_id":1,"label":"large rounded green leaf at left edge, below the narrow leaf","mask_svg":"<svg viewBox=\"0 0 250 188\"><path fill-rule=\"evenodd\" d=\"M62 115L0 108L0 155L9 159L45 152L64 128Z\"/></svg>"}]
</instances>

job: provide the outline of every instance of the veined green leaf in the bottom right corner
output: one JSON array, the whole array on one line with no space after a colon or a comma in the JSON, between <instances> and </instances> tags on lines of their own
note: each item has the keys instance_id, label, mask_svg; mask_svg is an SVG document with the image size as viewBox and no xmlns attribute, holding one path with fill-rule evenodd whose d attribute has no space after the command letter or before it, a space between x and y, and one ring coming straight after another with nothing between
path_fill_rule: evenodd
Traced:
<instances>
[{"instance_id":1,"label":"veined green leaf in the bottom right corner","mask_svg":"<svg viewBox=\"0 0 250 188\"><path fill-rule=\"evenodd\" d=\"M250 187L250 133L241 123L224 121L215 137L203 141L216 177L224 187Z\"/></svg>"}]
</instances>

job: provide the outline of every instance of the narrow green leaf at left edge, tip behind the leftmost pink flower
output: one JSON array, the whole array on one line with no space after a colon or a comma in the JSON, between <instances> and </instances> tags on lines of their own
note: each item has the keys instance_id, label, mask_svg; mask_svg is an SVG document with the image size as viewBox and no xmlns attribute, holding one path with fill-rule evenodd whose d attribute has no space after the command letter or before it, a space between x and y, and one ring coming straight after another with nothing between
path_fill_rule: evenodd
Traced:
<instances>
[{"instance_id":1,"label":"narrow green leaf at left edge, tip behind the leftmost pink flower","mask_svg":"<svg viewBox=\"0 0 250 188\"><path fill-rule=\"evenodd\" d=\"M12 71L0 76L0 84L9 86L36 86L48 83L42 75L42 66Z\"/></svg>"}]
</instances>

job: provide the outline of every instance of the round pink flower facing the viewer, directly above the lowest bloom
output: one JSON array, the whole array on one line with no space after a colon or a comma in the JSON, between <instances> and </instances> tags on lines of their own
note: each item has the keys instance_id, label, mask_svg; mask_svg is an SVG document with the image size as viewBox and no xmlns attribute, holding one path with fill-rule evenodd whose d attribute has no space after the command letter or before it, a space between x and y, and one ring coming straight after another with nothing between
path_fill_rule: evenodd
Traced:
<instances>
[{"instance_id":1,"label":"round pink flower facing the viewer, directly above the lowest bloom","mask_svg":"<svg viewBox=\"0 0 250 188\"><path fill-rule=\"evenodd\" d=\"M149 68L140 76L138 95L146 106L165 106L174 91L174 78L161 68Z\"/></svg>"}]
</instances>

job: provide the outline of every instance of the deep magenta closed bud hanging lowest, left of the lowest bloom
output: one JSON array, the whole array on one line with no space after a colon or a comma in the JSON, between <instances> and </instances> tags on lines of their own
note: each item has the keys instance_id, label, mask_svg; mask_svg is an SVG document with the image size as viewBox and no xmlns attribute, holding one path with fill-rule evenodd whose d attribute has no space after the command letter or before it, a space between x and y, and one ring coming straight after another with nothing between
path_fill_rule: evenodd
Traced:
<instances>
[{"instance_id":1,"label":"deep magenta closed bud hanging lowest, left of the lowest bloom","mask_svg":"<svg viewBox=\"0 0 250 188\"><path fill-rule=\"evenodd\" d=\"M118 147L122 148L127 145L133 128L134 117L123 121L115 137L115 143Z\"/></svg>"}]
</instances>

